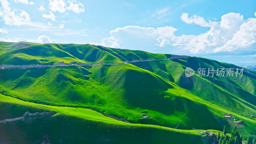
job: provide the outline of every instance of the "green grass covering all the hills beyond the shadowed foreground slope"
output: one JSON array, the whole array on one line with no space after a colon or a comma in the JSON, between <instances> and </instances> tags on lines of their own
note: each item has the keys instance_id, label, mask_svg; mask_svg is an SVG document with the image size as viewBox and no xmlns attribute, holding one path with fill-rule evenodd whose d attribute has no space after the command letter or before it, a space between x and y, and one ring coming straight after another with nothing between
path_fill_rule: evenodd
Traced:
<instances>
[{"instance_id":1,"label":"green grass covering all the hills beyond the shadowed foreground slope","mask_svg":"<svg viewBox=\"0 0 256 144\"><path fill-rule=\"evenodd\" d=\"M168 54L112 49L90 44L34 44L11 50L15 43L0 43L1 64L123 63L124 60L166 59ZM5 50L5 52L4 52ZM256 72L244 76L184 76L186 67L237 68L204 58L145 61L132 64L0 69L0 91L30 102L95 108L131 123L178 129L215 129L230 123L232 113L244 121L244 135L255 135ZM70 115L78 113L73 109ZM143 119L147 112L150 119ZM245 114L245 117L244 117Z\"/></svg>"}]
</instances>

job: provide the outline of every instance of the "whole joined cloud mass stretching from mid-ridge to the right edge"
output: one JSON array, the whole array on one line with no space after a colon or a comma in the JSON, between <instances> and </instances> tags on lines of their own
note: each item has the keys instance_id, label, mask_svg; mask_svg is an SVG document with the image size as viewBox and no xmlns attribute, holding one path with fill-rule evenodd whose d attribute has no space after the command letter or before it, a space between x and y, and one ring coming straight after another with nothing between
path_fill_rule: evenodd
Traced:
<instances>
[{"instance_id":1,"label":"whole joined cloud mass stretching from mid-ridge to the right edge","mask_svg":"<svg viewBox=\"0 0 256 144\"><path fill-rule=\"evenodd\" d=\"M175 36L177 30L173 27L142 28L126 26L110 31L110 37L102 40L102 45L110 47L149 50L150 48L169 48L170 51L192 54L215 55L254 55L256 54L256 19L244 20L240 13L228 13L221 17L220 22L206 21L203 17L188 17L187 13L181 19L188 24L210 27L199 35ZM134 46L136 45L136 46Z\"/></svg>"}]
</instances>

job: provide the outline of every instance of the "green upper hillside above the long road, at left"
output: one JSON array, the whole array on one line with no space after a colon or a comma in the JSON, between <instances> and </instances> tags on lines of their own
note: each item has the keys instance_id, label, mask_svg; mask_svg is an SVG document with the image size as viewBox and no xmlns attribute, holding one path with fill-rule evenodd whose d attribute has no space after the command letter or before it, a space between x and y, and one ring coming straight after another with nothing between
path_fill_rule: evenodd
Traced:
<instances>
[{"instance_id":1,"label":"green upper hillside above the long road, at left","mask_svg":"<svg viewBox=\"0 0 256 144\"><path fill-rule=\"evenodd\" d=\"M131 60L166 59L170 54L119 50L91 44L35 44L0 42L0 64L123 63Z\"/></svg>"}]
</instances>

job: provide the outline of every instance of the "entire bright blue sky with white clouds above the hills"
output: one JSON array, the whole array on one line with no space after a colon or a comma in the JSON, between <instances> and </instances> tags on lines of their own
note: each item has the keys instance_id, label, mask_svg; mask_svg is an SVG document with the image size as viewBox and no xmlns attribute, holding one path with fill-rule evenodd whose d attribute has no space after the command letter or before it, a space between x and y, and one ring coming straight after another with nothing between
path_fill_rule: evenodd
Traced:
<instances>
[{"instance_id":1,"label":"entire bright blue sky with white clouds above the hills","mask_svg":"<svg viewBox=\"0 0 256 144\"><path fill-rule=\"evenodd\" d=\"M256 1L0 0L0 41L256 63Z\"/></svg>"}]
</instances>

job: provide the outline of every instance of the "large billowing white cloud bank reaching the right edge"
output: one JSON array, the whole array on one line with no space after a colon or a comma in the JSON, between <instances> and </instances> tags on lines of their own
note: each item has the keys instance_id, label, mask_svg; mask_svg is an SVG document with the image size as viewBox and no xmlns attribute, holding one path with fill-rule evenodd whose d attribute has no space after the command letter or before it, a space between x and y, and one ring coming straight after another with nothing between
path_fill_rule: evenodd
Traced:
<instances>
[{"instance_id":1,"label":"large billowing white cloud bank reaching the right edge","mask_svg":"<svg viewBox=\"0 0 256 144\"><path fill-rule=\"evenodd\" d=\"M255 53L256 19L244 20L239 13L228 13L221 17L220 24L197 36L160 36L158 46L173 46L193 54L250 54Z\"/></svg>"}]
</instances>

